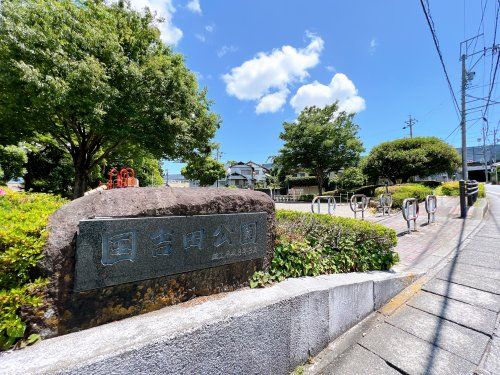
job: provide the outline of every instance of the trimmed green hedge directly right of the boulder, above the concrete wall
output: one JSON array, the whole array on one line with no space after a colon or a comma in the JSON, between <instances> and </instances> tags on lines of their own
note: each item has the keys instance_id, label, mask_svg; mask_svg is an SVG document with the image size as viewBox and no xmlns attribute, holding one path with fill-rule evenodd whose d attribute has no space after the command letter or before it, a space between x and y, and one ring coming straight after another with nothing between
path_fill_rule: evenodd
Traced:
<instances>
[{"instance_id":1,"label":"trimmed green hedge directly right of the boulder, above the concrete wall","mask_svg":"<svg viewBox=\"0 0 500 375\"><path fill-rule=\"evenodd\" d=\"M268 272L256 272L250 286L289 277L388 270L399 256L396 232L351 218L278 210L277 241Z\"/></svg>"}]
</instances>

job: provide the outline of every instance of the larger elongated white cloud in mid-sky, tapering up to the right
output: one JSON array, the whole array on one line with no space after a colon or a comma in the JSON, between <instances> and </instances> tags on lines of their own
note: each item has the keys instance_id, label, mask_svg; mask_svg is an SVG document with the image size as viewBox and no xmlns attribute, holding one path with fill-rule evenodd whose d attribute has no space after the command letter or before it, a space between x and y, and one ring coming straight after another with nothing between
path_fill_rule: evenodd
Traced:
<instances>
[{"instance_id":1,"label":"larger elongated white cloud in mid-sky, tapering up to the right","mask_svg":"<svg viewBox=\"0 0 500 375\"><path fill-rule=\"evenodd\" d=\"M286 101L288 85L304 80L309 76L308 69L319 63L323 39L311 33L306 35L310 42L305 48L285 45L270 53L259 52L232 68L222 76L226 92L240 100L256 100L257 113L277 111Z\"/></svg>"}]
</instances>

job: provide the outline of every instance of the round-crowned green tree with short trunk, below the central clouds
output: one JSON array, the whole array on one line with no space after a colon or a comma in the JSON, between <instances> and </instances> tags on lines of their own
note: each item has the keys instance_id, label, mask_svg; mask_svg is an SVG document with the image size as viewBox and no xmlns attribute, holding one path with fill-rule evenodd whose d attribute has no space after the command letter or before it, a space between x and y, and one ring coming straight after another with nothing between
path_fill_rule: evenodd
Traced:
<instances>
[{"instance_id":1,"label":"round-crowned green tree with short trunk, below the central clouds","mask_svg":"<svg viewBox=\"0 0 500 375\"><path fill-rule=\"evenodd\" d=\"M354 115L339 112L337 103L306 107L294 122L285 122L285 142L278 161L287 170L307 170L316 177L319 194L328 173L355 166L363 151Z\"/></svg>"}]
</instances>

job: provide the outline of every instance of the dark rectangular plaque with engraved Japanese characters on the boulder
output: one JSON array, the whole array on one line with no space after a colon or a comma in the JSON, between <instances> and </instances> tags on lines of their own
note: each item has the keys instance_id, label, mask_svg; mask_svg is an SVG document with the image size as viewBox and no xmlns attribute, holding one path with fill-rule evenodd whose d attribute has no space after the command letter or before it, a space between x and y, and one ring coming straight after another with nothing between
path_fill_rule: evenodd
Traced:
<instances>
[{"instance_id":1,"label":"dark rectangular plaque with engraved Japanese characters on the boulder","mask_svg":"<svg viewBox=\"0 0 500 375\"><path fill-rule=\"evenodd\" d=\"M266 219L257 212L81 220L74 290L263 258Z\"/></svg>"}]
</instances>

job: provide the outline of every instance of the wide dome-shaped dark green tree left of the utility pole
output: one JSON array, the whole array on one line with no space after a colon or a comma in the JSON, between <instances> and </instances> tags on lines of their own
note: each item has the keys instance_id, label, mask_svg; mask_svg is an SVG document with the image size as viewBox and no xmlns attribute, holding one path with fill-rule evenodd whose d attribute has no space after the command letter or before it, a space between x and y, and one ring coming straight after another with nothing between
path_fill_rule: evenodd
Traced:
<instances>
[{"instance_id":1,"label":"wide dome-shaped dark green tree left of the utility pole","mask_svg":"<svg viewBox=\"0 0 500 375\"><path fill-rule=\"evenodd\" d=\"M403 138L374 147L363 164L364 173L374 181L407 182L414 176L453 173L460 165L460 155L436 137Z\"/></svg>"}]
</instances>

